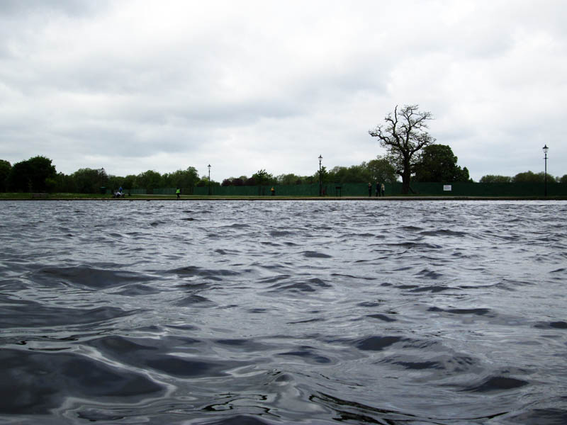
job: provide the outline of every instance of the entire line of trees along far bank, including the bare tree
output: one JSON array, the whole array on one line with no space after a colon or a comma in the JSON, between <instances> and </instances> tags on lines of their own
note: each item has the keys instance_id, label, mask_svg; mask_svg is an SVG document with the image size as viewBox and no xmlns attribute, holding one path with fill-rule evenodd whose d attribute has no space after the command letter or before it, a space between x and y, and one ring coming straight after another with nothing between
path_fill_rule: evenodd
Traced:
<instances>
[{"instance_id":1,"label":"entire line of trees along far bank, including the bare tree","mask_svg":"<svg viewBox=\"0 0 567 425\"><path fill-rule=\"evenodd\" d=\"M410 181L418 182L472 182L466 166L457 164L458 158L449 145L435 143L427 131L427 121L432 120L430 112L420 111L417 105L406 105L384 118L384 123L369 130L376 137L386 154L362 162L359 165L335 166L332 169L322 166L310 176L281 174L274 176L261 169L252 176L239 176L224 179L222 183L209 181L207 176L198 176L193 166L179 169L173 173L159 174L148 170L137 175L112 176L101 169L79 169L73 174L57 173L55 165L47 157L33 157L13 166L0 159L1 191L51 191L60 193L96 193L101 188L125 190L155 188L191 188L194 186L264 186L291 185L305 183L393 183L402 180L402 193L410 190ZM523 183L567 182L567 174L556 178L532 171L514 177L487 175L481 183Z\"/></svg>"}]
</instances>

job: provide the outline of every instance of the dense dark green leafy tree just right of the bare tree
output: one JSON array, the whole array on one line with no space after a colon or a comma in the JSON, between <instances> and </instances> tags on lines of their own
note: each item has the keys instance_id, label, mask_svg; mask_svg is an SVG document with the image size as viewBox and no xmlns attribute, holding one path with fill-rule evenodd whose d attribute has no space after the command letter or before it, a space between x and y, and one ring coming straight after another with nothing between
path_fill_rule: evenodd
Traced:
<instances>
[{"instance_id":1,"label":"dense dark green leafy tree just right of the bare tree","mask_svg":"<svg viewBox=\"0 0 567 425\"><path fill-rule=\"evenodd\" d=\"M457 157L448 145L428 145L423 148L420 162L415 164L415 181L469 181L468 169L456 164Z\"/></svg>"}]
</instances>

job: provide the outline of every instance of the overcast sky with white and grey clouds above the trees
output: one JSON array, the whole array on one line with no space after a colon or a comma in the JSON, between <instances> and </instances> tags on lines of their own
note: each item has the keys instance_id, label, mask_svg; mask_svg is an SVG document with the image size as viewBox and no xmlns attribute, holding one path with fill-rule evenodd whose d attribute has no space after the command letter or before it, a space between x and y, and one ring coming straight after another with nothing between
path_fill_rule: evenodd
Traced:
<instances>
[{"instance_id":1,"label":"overcast sky with white and grey clouds above the trees","mask_svg":"<svg viewBox=\"0 0 567 425\"><path fill-rule=\"evenodd\" d=\"M385 153L396 105L473 179L567 174L558 0L0 0L0 159L217 181Z\"/></svg>"}]
</instances>

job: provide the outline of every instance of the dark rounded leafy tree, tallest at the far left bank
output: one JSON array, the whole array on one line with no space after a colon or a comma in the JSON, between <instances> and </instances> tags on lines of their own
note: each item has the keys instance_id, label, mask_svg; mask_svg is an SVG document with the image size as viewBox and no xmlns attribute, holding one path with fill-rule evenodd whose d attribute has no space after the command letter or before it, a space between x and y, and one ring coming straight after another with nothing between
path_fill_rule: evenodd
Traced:
<instances>
[{"instance_id":1,"label":"dark rounded leafy tree, tallest at the far left bank","mask_svg":"<svg viewBox=\"0 0 567 425\"><path fill-rule=\"evenodd\" d=\"M38 156L13 164L8 177L9 186L16 191L47 191L57 176L51 159ZM46 181L50 179L50 181Z\"/></svg>"}]
</instances>

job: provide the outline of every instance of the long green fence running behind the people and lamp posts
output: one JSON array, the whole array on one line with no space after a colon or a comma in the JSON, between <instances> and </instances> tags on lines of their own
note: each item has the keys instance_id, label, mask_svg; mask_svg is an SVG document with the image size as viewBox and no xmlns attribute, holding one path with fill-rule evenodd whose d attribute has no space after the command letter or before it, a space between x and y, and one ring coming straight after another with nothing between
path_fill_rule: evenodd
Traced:
<instances>
[{"instance_id":1,"label":"long green fence running behind the people and lamp posts","mask_svg":"<svg viewBox=\"0 0 567 425\"><path fill-rule=\"evenodd\" d=\"M402 194L402 183L386 183L386 196ZM271 196L274 187L276 196L319 196L319 184L276 186L210 186L213 196ZM544 183L417 183L410 184L410 196L544 196ZM176 188L125 190L132 195L175 195ZM110 193L110 191L107 191ZM325 196L369 196L368 183L325 183ZM376 196L376 183L372 185L372 196ZM208 196L208 186L181 188L181 195ZM566 196L566 183L547 183L547 196Z\"/></svg>"}]
</instances>

